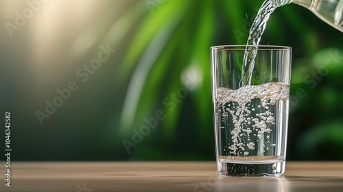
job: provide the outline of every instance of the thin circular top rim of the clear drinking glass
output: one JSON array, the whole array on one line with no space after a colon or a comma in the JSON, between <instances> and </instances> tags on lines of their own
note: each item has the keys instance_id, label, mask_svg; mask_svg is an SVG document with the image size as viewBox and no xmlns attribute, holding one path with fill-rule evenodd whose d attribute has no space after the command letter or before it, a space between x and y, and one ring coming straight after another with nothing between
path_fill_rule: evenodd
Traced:
<instances>
[{"instance_id":1,"label":"thin circular top rim of the clear drinking glass","mask_svg":"<svg viewBox=\"0 0 343 192\"><path fill-rule=\"evenodd\" d=\"M216 45L210 47L211 50L222 50L222 51L242 51L245 50L247 45ZM248 47L255 47L249 45ZM259 45L257 50L292 50L292 47L283 46L283 45Z\"/></svg>"}]
</instances>

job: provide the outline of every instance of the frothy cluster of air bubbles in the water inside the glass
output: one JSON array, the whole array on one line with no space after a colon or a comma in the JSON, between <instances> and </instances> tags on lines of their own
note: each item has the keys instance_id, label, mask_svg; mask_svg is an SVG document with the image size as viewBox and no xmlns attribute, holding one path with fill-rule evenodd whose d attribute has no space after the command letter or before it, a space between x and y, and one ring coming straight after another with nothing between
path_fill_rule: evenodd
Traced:
<instances>
[{"instance_id":1,"label":"frothy cluster of air bubbles in the water inside the glass","mask_svg":"<svg viewBox=\"0 0 343 192\"><path fill-rule=\"evenodd\" d=\"M274 125L275 119L272 117L273 114L269 110L271 106L268 105L274 105L276 104L276 101L280 101L280 99L285 100L288 98L289 86L282 83L268 83L259 86L243 86L235 91L230 90L229 88L218 88L215 101L217 103L217 110L222 115L222 118L218 119L219 121L222 120L222 123L224 123L224 120L228 121L228 114L230 115L230 118L232 118L230 122L225 123L227 127L224 128L230 128L230 137L232 139L231 141L233 142L230 147L228 147L230 150L229 154L239 156L239 154L243 153L237 151L238 147L239 149L242 147L242 139L240 137L244 137L246 134L248 134L248 141L251 141L252 139L249 139L249 136L252 131L258 132L258 135L261 136L261 138L264 133L271 132L272 130L268 124ZM260 108L259 114L256 115L257 118L255 119L249 117L251 111L256 110L252 103L252 99L257 99L257 102L260 102L261 104L258 106ZM228 108L228 106L230 108ZM224 113L224 111L227 112ZM233 126L230 126L232 123ZM254 130L250 130L248 128L244 130L244 127L246 126L251 126L254 128ZM246 132L246 134L242 134L241 132ZM257 136L257 133L254 135ZM266 137L268 138L268 136ZM259 142L259 139L257 139L255 142ZM253 147L255 149L254 146L250 146L250 148ZM275 147L275 144L272 144L272 146Z\"/></svg>"}]
</instances>

